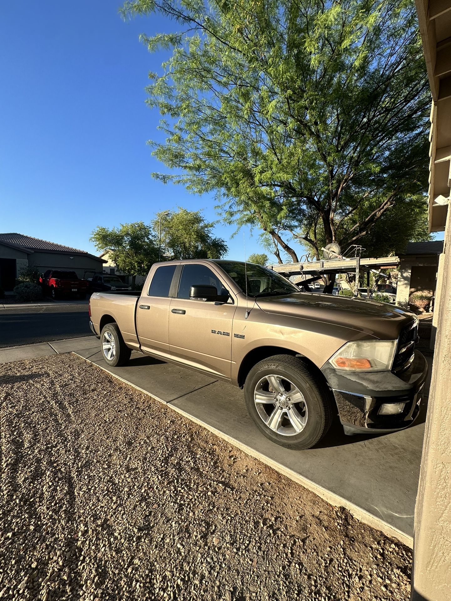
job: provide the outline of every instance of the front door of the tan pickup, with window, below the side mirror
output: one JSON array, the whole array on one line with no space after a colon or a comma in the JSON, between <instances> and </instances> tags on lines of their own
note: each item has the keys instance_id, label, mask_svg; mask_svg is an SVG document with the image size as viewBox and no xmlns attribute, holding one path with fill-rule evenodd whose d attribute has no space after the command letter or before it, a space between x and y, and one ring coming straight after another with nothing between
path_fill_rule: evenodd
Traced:
<instances>
[{"instance_id":1,"label":"front door of the tan pickup, with window, below the side mirror","mask_svg":"<svg viewBox=\"0 0 451 601\"><path fill-rule=\"evenodd\" d=\"M171 356L191 367L230 378L236 302L191 300L189 290L194 285L216 286L218 294L225 288L218 273L210 267L197 263L182 266L169 313Z\"/></svg>"}]
</instances>

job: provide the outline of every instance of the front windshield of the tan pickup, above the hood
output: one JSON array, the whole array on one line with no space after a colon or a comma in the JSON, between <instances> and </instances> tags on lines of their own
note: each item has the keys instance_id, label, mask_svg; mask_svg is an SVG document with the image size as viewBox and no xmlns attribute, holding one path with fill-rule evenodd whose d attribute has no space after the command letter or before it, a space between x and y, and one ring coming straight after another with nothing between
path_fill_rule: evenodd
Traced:
<instances>
[{"instance_id":1,"label":"front windshield of the tan pickup, above the hood","mask_svg":"<svg viewBox=\"0 0 451 601\"><path fill-rule=\"evenodd\" d=\"M218 261L218 264L224 269L236 284L239 285L243 292L246 291L246 276L247 272L247 293L248 296L269 296L270 294L293 294L299 292L299 288L285 279L279 273L262 267L238 261Z\"/></svg>"}]
</instances>

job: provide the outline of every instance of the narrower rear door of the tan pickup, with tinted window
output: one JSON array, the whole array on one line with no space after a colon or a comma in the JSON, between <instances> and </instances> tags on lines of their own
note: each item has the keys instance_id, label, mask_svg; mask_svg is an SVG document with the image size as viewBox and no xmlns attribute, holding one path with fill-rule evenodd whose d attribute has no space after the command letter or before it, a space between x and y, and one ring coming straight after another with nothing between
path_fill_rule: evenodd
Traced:
<instances>
[{"instance_id":1,"label":"narrower rear door of the tan pickup, with tinted window","mask_svg":"<svg viewBox=\"0 0 451 601\"><path fill-rule=\"evenodd\" d=\"M146 281L137 307L137 333L141 348L163 357L170 356L168 341L168 319L171 304L171 288L176 264L161 265Z\"/></svg>"}]
</instances>

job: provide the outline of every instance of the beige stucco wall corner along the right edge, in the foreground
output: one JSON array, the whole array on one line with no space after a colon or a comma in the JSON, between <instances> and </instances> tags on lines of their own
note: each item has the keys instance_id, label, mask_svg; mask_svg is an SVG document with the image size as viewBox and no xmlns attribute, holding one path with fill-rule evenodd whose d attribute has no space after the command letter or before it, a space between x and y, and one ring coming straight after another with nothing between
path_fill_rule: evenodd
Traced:
<instances>
[{"instance_id":1,"label":"beige stucco wall corner along the right edge, in the foreground","mask_svg":"<svg viewBox=\"0 0 451 601\"><path fill-rule=\"evenodd\" d=\"M445 233L437 338L415 509L414 601L451 599L451 227Z\"/></svg>"}]
</instances>

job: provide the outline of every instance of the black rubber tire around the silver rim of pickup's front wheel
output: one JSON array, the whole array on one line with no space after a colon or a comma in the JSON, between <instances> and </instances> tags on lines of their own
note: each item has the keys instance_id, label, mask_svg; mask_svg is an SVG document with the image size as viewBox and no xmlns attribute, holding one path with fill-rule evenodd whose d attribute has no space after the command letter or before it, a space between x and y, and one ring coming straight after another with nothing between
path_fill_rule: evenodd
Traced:
<instances>
[{"instance_id":1,"label":"black rubber tire around the silver rim of pickup's front wheel","mask_svg":"<svg viewBox=\"0 0 451 601\"><path fill-rule=\"evenodd\" d=\"M301 365L300 362L299 365ZM281 377L286 377L286 379L295 384L304 395L305 403L307 404L308 419L307 424L301 433L293 436L277 434L269 429L268 426L263 423L262 418L260 418L254 403L254 391L257 383L269 374L277 374ZM244 385L244 396L247 410L258 429L266 436L266 438L269 438L271 441L282 445L283 447L308 448L318 442L324 432L325 412L324 404L321 400L321 393L318 388L314 386L313 378L307 376L307 372L305 372L304 375L300 369L293 369L289 365L284 365L283 362L277 360L271 361L271 359L266 359L260 361L260 363L252 368L247 376Z\"/></svg>"}]
</instances>

